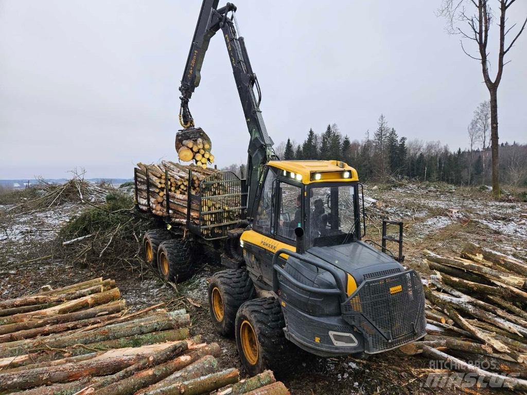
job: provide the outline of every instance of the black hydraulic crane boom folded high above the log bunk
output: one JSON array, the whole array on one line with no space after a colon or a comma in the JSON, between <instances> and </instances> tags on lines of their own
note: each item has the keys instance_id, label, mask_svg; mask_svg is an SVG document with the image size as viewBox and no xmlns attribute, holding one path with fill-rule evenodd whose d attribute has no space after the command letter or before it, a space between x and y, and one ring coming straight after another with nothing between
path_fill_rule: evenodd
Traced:
<instances>
[{"instance_id":1,"label":"black hydraulic crane boom folded high above the log bunk","mask_svg":"<svg viewBox=\"0 0 527 395\"><path fill-rule=\"evenodd\" d=\"M236 6L227 3L225 7L217 8L218 0L203 0L201 11L192 38L187 64L181 78L181 110L180 122L184 128L194 126L194 120L189 111L189 100L194 89L201 80L201 66L209 47L211 37L221 29L227 45L227 51L232 66L238 94L240 95L243 114L250 134L247 159L247 182L249 194L247 201L247 216L253 217L253 202L255 201L262 166L268 161L277 159L272 149L273 142L267 134L264 120L261 116L261 91L256 74L252 72L243 37L238 37L235 19ZM230 13L230 15L229 15ZM258 100L253 88L256 85Z\"/></svg>"}]
</instances>

